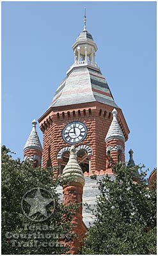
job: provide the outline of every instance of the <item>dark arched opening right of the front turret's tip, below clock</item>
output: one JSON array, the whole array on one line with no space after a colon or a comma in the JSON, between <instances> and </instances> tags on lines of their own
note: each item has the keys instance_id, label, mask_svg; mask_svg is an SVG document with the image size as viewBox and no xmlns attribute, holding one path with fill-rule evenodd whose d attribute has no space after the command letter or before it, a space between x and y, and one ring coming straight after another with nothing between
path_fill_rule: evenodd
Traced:
<instances>
[{"instance_id":1,"label":"dark arched opening right of the front turret's tip, below clock","mask_svg":"<svg viewBox=\"0 0 158 256\"><path fill-rule=\"evenodd\" d=\"M81 166L81 169L84 172L90 171L90 159L88 158L87 151L85 149L81 149L77 152L77 161L79 163L79 166Z\"/></svg>"}]
</instances>

